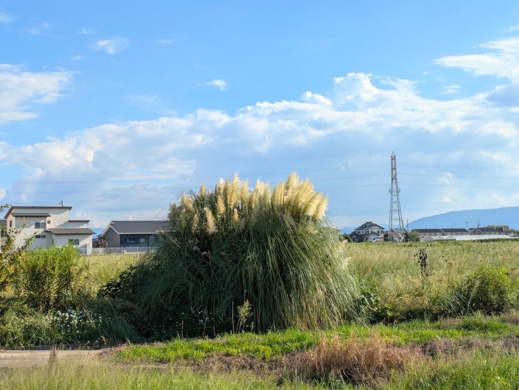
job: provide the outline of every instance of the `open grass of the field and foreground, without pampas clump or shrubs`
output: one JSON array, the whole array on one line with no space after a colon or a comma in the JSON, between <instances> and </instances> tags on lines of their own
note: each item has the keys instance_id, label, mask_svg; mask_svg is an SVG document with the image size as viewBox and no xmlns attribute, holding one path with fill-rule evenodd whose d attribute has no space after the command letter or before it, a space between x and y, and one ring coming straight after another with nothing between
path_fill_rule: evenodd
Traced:
<instances>
[{"instance_id":1,"label":"open grass of the field and foreground, without pampas clump or shrubs","mask_svg":"<svg viewBox=\"0 0 519 390\"><path fill-rule=\"evenodd\" d=\"M420 248L428 253L426 277L414 257ZM370 287L376 304L390 307L389 320L370 324L363 319L321 331L129 344L104 356L99 365L58 363L0 371L0 389L519 389L516 296L502 314L429 319L409 314L436 307L453 286L482 267L506 268L516 291L518 242L356 244L348 246L348 256L354 276ZM137 260L81 258L87 262L91 291ZM355 375L334 366L344 351L353 351L349 361L355 362ZM334 374L317 375L322 369Z\"/></svg>"}]
</instances>

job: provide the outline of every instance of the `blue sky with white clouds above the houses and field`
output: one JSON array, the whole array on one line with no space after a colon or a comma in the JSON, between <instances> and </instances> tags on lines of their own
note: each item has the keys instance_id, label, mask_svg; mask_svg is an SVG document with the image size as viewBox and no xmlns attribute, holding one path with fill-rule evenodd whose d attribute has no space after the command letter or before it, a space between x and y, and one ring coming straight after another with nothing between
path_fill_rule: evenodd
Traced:
<instances>
[{"instance_id":1,"label":"blue sky with white clouds above the houses and field","mask_svg":"<svg viewBox=\"0 0 519 390\"><path fill-rule=\"evenodd\" d=\"M519 206L519 3L385 3L0 2L0 203L103 228L295 170L387 225L394 151L404 223Z\"/></svg>"}]
</instances>

